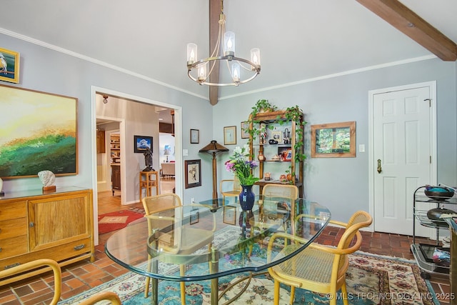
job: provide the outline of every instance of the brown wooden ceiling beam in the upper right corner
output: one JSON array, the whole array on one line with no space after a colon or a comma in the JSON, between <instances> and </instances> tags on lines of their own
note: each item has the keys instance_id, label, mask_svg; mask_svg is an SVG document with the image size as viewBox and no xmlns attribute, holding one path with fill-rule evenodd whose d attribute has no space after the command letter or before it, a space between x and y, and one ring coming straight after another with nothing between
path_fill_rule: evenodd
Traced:
<instances>
[{"instance_id":1,"label":"brown wooden ceiling beam in the upper right corner","mask_svg":"<svg viewBox=\"0 0 457 305\"><path fill-rule=\"evenodd\" d=\"M356 0L443 61L456 61L457 45L398 0Z\"/></svg>"}]
</instances>

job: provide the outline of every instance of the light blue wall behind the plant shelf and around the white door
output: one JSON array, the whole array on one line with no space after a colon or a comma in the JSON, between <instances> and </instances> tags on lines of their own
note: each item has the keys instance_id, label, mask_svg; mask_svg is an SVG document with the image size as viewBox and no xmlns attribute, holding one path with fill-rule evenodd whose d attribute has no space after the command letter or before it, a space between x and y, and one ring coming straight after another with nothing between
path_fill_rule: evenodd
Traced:
<instances>
[{"instance_id":1,"label":"light blue wall behind the plant shelf and around the white door","mask_svg":"<svg viewBox=\"0 0 457 305\"><path fill-rule=\"evenodd\" d=\"M303 68L304 69L304 68ZM261 76L258 76L261 77ZM214 133L223 138L224 126L236 125L237 144L246 143L239 134L240 122L247 119L258 99L268 99L279 109L298 105L306 115L306 155L310 155L311 124L356 121L356 158L308 158L305 169L305 194L331 210L337 219L348 219L353 211L368 211L368 91L424 81L437 84L438 182L457 185L456 177L456 63L440 59L418 61L401 66L323 79L283 89L263 91L219 101L214 106ZM228 146L233 150L234 146ZM225 159L229 156L226 154ZM219 161L221 179L231 174ZM411 195L412 196L412 195Z\"/></svg>"}]
</instances>

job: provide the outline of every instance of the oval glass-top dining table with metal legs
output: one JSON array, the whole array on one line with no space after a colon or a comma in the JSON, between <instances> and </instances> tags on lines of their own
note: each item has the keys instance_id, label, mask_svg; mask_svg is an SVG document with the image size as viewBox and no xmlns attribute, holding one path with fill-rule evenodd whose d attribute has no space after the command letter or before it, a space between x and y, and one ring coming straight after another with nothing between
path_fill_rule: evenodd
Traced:
<instances>
[{"instance_id":1,"label":"oval glass-top dining table with metal legs","mask_svg":"<svg viewBox=\"0 0 457 305\"><path fill-rule=\"evenodd\" d=\"M151 278L151 304L158 304L158 280L207 279L211 280L211 304L218 304L220 277L248 274L246 289L252 276L305 249L321 234L330 218L325 206L307 199L291 202L286 198L256 196L251 211L241 210L236 203L202 201L162 209L145 216L145 221L116 231L106 241L105 252L129 271ZM267 254L268 241L277 232L307 242L286 256ZM281 244L275 247L279 251Z\"/></svg>"}]
</instances>

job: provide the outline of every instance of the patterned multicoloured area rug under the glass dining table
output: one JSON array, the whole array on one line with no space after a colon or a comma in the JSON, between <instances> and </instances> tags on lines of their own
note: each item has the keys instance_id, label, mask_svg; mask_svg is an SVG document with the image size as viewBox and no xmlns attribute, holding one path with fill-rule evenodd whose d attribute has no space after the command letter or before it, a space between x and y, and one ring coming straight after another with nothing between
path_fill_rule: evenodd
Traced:
<instances>
[{"instance_id":1,"label":"patterned multicoloured area rug under the glass dining table","mask_svg":"<svg viewBox=\"0 0 457 305\"><path fill-rule=\"evenodd\" d=\"M439 304L428 281L421 278L421 271L415 261L397 259L390 256L376 256L357 252L349 256L350 266L346 275L349 304ZM236 258L234 258L236 259ZM176 269L171 272L176 272ZM238 276L219 279L219 291L223 291ZM119 294L122 304L151 304L144 298L145 277L128 273L106 284L85 291L59 304L79 304L84 298L99 291L114 291ZM243 284L236 284L226 292L223 299L236 295ZM288 304L290 289L281 284L280 304ZM341 295L339 295L341 296ZM338 296L338 297L339 297ZM211 304L210 281L186 283L187 304ZM271 304L273 302L273 281L268 274L256 276L240 299L232 304ZM293 304L328 304L328 296L315 294L304 289L296 289ZM179 282L159 281L159 304L181 304ZM343 304L341 299L337 304Z\"/></svg>"}]
</instances>

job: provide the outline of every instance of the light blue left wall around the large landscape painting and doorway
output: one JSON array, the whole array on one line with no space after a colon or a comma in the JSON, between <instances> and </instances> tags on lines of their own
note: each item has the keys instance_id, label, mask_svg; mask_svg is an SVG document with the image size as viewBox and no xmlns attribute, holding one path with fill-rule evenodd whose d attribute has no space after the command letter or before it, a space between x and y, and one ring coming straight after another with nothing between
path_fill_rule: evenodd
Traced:
<instances>
[{"instance_id":1,"label":"light blue left wall around the large landscape painting and doorway","mask_svg":"<svg viewBox=\"0 0 457 305\"><path fill-rule=\"evenodd\" d=\"M91 144L93 133L91 128L91 86L96 86L132 96L140 96L152 101L181 106L183 114L182 147L189 151L189 156L184 156L184 159L202 159L201 167L204 177L201 187L192 189L184 189L183 187L184 198L207 199L211 197L211 160L204 161L199 155L199 149L209 143L213 137L213 109L209 101L11 36L0 34L0 41L2 47L19 51L21 55L20 83L1 82L1 84L74 96L79 99L79 174L57 177L57 186L82 186L86 188L93 186L92 171L96 169L92 169L91 159L92 151L94 151ZM94 45L94 47L96 46ZM145 64L151 64L151 69L154 69L152 61ZM183 77L187 77L184 71ZM200 144L189 144L190 129L200 130ZM41 189L41 182L37 177L4 181L4 191L11 192L24 189Z\"/></svg>"}]
</instances>

